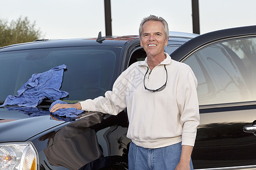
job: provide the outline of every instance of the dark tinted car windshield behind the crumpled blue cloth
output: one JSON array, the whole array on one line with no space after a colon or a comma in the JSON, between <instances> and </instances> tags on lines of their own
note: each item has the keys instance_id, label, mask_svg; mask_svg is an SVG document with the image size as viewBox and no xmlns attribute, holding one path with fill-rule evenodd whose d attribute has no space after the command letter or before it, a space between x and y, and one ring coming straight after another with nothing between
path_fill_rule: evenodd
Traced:
<instances>
[{"instance_id":1,"label":"dark tinted car windshield behind the crumpled blue cloth","mask_svg":"<svg viewBox=\"0 0 256 170\"><path fill-rule=\"evenodd\" d=\"M111 90L121 48L72 47L19 50L0 53L0 97L4 101L31 78L53 67L66 65L61 91L64 100L86 100Z\"/></svg>"}]
</instances>

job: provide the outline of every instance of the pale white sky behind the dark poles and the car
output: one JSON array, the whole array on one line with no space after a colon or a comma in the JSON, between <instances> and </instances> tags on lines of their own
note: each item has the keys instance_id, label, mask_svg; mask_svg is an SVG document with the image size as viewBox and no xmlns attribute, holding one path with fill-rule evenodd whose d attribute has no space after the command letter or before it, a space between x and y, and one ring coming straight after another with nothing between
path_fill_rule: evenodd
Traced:
<instances>
[{"instance_id":1,"label":"pale white sky behind the dark poles and the car","mask_svg":"<svg viewBox=\"0 0 256 170\"><path fill-rule=\"evenodd\" d=\"M44 39L105 36L104 0L0 0L0 19L35 22ZM256 0L199 0L200 34L256 25ZM192 33L191 0L111 0L112 35L138 35L141 20L162 16L170 31Z\"/></svg>"}]
</instances>

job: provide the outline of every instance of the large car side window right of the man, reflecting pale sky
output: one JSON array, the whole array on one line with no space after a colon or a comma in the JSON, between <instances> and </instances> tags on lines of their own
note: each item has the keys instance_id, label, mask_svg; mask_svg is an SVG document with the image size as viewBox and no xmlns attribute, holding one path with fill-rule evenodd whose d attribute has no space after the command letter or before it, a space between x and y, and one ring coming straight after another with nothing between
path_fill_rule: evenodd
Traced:
<instances>
[{"instance_id":1,"label":"large car side window right of the man, reflecting pale sky","mask_svg":"<svg viewBox=\"0 0 256 170\"><path fill-rule=\"evenodd\" d=\"M256 100L256 38L217 42L184 62L194 71L200 105Z\"/></svg>"}]
</instances>

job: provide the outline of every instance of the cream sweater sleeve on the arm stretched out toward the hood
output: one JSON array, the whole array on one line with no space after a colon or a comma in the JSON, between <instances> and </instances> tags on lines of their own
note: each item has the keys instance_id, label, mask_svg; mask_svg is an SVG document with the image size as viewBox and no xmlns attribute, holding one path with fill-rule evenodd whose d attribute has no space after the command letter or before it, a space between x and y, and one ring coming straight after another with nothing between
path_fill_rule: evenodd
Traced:
<instances>
[{"instance_id":1,"label":"cream sweater sleeve on the arm stretched out toward the hood","mask_svg":"<svg viewBox=\"0 0 256 170\"><path fill-rule=\"evenodd\" d=\"M113 85L112 91L107 91L104 96L99 96L95 99L80 101L82 110L89 112L102 112L117 115L126 108L126 79L124 71Z\"/></svg>"}]
</instances>

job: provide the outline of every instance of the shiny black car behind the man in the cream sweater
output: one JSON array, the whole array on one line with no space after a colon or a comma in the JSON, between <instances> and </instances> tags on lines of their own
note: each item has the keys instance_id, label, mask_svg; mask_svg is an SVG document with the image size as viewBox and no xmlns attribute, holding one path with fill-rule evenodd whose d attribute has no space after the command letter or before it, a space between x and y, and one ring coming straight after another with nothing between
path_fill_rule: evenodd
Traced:
<instances>
[{"instance_id":1,"label":"shiny black car behind the man in the cream sweater","mask_svg":"<svg viewBox=\"0 0 256 170\"><path fill-rule=\"evenodd\" d=\"M201 123L192 153L195 169L256 168L256 25L204 35L171 32L165 50L194 71ZM39 40L0 49L0 97L16 95L32 74L66 65L63 101L104 95L146 53L138 36ZM37 107L0 108L0 169L127 169L126 111L78 117ZM245 126L245 128L243 128ZM253 129L253 130L251 130ZM244 131L243 131L244 130Z\"/></svg>"}]
</instances>

